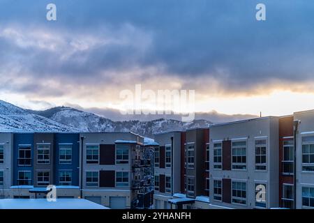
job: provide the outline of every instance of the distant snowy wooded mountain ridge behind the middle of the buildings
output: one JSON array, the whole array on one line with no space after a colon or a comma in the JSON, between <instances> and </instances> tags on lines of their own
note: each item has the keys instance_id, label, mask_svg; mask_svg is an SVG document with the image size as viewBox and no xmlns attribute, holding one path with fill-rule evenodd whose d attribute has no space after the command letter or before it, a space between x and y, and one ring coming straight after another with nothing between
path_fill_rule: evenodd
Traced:
<instances>
[{"instance_id":1,"label":"distant snowy wooded mountain ridge behind the middle of the buildings","mask_svg":"<svg viewBox=\"0 0 314 223\"><path fill-rule=\"evenodd\" d=\"M71 107L54 107L45 111L29 111L45 116L58 123L69 125L84 132L131 131L145 137L153 137L160 132L186 130L189 128L204 128L211 125L210 121L195 120L181 122L173 119L160 118L153 121L112 121L89 112L82 112Z\"/></svg>"}]
</instances>

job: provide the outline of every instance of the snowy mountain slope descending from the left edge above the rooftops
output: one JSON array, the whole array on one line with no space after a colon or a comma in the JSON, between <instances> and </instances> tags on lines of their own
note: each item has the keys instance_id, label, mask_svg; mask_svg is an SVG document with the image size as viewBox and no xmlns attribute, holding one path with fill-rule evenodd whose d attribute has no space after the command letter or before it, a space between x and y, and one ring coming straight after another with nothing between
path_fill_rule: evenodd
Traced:
<instances>
[{"instance_id":1,"label":"snowy mountain slope descending from the left edge above the rooftops","mask_svg":"<svg viewBox=\"0 0 314 223\"><path fill-rule=\"evenodd\" d=\"M0 100L0 131L77 132L78 129Z\"/></svg>"}]
</instances>

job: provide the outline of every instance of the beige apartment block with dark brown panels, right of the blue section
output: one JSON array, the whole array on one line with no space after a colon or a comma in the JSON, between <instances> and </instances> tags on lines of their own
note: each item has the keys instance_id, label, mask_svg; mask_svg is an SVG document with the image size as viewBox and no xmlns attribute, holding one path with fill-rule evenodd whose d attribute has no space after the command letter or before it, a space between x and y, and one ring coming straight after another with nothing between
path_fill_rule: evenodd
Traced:
<instances>
[{"instance_id":1,"label":"beige apartment block with dark brown panels, right of the blue section","mask_svg":"<svg viewBox=\"0 0 314 223\"><path fill-rule=\"evenodd\" d=\"M151 205L142 201L153 193L153 173L145 172L151 167L149 157L144 159L149 146L143 137L132 132L89 132L81 133L80 139L82 197L114 209Z\"/></svg>"}]
</instances>

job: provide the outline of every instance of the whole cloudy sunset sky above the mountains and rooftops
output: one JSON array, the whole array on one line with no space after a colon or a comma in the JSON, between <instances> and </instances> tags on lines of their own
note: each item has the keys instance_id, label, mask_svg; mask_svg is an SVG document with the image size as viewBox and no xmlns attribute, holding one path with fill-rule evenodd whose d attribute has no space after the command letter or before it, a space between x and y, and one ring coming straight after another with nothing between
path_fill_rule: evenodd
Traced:
<instances>
[{"instance_id":1,"label":"whole cloudy sunset sky above the mountains and rooftops","mask_svg":"<svg viewBox=\"0 0 314 223\"><path fill-rule=\"evenodd\" d=\"M314 109L313 11L308 0L0 0L0 98L125 109L119 93L142 84L195 90L196 112Z\"/></svg>"}]
</instances>

